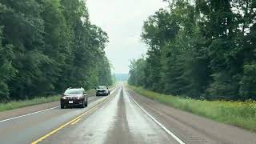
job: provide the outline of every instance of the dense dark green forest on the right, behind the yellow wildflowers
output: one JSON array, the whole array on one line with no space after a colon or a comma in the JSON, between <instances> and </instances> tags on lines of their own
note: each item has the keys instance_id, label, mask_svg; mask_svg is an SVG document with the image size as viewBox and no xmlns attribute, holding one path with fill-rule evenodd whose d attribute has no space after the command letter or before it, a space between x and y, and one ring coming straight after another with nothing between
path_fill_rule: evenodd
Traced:
<instances>
[{"instance_id":1,"label":"dense dark green forest on the right, behind the yellow wildflowers","mask_svg":"<svg viewBox=\"0 0 256 144\"><path fill-rule=\"evenodd\" d=\"M256 99L256 1L176 0L144 22L130 85L206 99Z\"/></svg>"}]
</instances>

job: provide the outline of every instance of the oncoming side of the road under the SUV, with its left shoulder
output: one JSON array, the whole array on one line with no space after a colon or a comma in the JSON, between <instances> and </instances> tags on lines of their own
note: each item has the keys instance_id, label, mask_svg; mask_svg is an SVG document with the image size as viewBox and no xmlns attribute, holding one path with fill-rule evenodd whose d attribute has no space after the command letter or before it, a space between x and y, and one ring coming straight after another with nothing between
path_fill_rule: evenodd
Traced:
<instances>
[{"instance_id":1,"label":"oncoming side of the road under the SUV, with its left shoulder","mask_svg":"<svg viewBox=\"0 0 256 144\"><path fill-rule=\"evenodd\" d=\"M114 94L114 90L112 92ZM40 113L0 122L0 143L30 143L49 133L62 123L90 110L107 97L90 97L85 109L60 109L56 107Z\"/></svg>"}]
</instances>

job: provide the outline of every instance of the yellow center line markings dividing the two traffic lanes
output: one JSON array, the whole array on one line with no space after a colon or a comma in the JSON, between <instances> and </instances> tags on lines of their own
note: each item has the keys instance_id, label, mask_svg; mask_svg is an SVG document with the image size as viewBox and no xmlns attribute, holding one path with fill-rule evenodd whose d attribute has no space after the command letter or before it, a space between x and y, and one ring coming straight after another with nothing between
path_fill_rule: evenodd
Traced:
<instances>
[{"instance_id":1,"label":"yellow center line markings dividing the two traffic lanes","mask_svg":"<svg viewBox=\"0 0 256 144\"><path fill-rule=\"evenodd\" d=\"M113 93L114 94L114 93ZM113 96L111 96L113 97ZM102 102L98 103L98 105L94 106L93 108L91 108L90 110L86 111L85 113L81 114L81 115L78 115L77 118L74 118L72 119L70 122L66 122L64 125L62 126L59 126L57 129L51 131L50 133L46 134L45 136L43 136L42 138L39 138L38 140L34 141L34 142L31 142L31 144L37 144L38 142L41 142L42 140L50 137L50 135L58 132L58 130L62 130L65 126L68 126L70 123L74 123L75 121L78 121L78 119L81 119L82 116L86 115L86 114L89 114L90 112L94 111L94 110L97 110L98 109L98 106L101 106L103 102L106 102L107 100L109 100L111 97L109 98L106 98L104 99Z\"/></svg>"}]
</instances>

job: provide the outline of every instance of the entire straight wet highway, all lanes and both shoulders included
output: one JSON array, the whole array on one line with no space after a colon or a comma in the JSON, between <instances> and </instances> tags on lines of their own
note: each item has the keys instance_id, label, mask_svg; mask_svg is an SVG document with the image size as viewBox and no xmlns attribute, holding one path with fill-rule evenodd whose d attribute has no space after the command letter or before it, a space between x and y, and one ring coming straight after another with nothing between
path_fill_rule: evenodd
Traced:
<instances>
[{"instance_id":1,"label":"entire straight wet highway, all lanes and both shoulders included","mask_svg":"<svg viewBox=\"0 0 256 144\"><path fill-rule=\"evenodd\" d=\"M256 134L165 106L123 85L85 109L58 102L0 113L0 143L252 143Z\"/></svg>"}]
</instances>

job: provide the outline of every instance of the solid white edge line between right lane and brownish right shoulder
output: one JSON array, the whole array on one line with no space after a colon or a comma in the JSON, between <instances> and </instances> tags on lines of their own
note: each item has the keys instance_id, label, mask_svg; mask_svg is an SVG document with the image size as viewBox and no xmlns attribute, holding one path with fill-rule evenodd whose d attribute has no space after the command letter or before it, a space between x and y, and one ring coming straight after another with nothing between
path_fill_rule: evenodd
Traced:
<instances>
[{"instance_id":1,"label":"solid white edge line between right lane and brownish right shoulder","mask_svg":"<svg viewBox=\"0 0 256 144\"><path fill-rule=\"evenodd\" d=\"M126 92L126 90L125 90ZM131 98L130 94L126 92L126 94ZM180 138L178 138L175 134L173 134L170 130L168 130L165 126L162 125L162 123L158 122L158 120L156 120L153 116L151 116L148 112L146 112L146 110L144 110L142 108L142 106L139 106L137 102L135 102L134 98L131 98L134 103L142 110L144 111L151 119L153 119L154 122L156 122L159 126L162 127L163 130L166 131L166 133L170 134L178 143L180 144L185 144L185 142L183 142Z\"/></svg>"}]
</instances>

